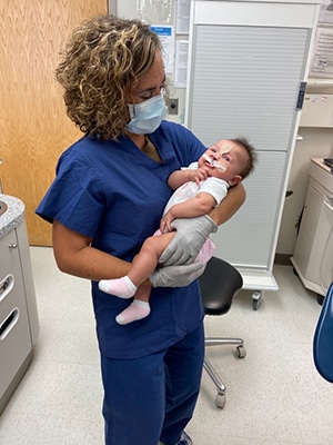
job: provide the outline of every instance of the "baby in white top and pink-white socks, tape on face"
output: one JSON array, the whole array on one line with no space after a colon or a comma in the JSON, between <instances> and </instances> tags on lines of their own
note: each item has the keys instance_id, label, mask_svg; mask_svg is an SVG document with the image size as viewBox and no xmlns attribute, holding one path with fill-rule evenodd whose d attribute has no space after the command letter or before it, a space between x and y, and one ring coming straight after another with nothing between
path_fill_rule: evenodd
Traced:
<instances>
[{"instance_id":1,"label":"baby in white top and pink-white socks, tape on face","mask_svg":"<svg viewBox=\"0 0 333 445\"><path fill-rule=\"evenodd\" d=\"M142 286L135 293L158 267L160 255L174 237L171 222L175 218L206 215L219 206L226 196L228 188L241 182L253 170L255 160L254 148L246 139L219 140L198 162L170 175L168 184L175 191L167 202L160 230L143 243L127 276L99 281L99 288L107 294L120 298L134 296L131 305L115 317L119 324L125 325L150 314L149 287ZM206 264L213 251L214 245L208 238L195 261Z\"/></svg>"}]
</instances>

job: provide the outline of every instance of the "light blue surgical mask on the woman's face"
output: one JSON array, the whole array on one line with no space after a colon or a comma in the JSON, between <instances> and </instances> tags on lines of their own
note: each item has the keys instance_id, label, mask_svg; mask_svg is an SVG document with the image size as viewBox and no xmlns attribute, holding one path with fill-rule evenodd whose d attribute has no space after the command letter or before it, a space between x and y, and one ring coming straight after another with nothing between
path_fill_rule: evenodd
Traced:
<instances>
[{"instance_id":1,"label":"light blue surgical mask on the woman's face","mask_svg":"<svg viewBox=\"0 0 333 445\"><path fill-rule=\"evenodd\" d=\"M129 105L131 121L127 125L134 135L149 135L160 127L167 112L162 95L154 96L142 103Z\"/></svg>"}]
</instances>

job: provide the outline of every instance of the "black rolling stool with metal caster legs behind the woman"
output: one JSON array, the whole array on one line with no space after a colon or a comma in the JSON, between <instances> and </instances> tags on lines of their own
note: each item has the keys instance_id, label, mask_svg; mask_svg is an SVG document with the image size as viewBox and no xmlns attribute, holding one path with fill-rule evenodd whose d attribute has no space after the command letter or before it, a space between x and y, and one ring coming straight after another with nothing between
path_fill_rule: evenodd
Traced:
<instances>
[{"instance_id":1,"label":"black rolling stool with metal caster legs behind the woman","mask_svg":"<svg viewBox=\"0 0 333 445\"><path fill-rule=\"evenodd\" d=\"M212 257L203 275L200 277L201 296L205 315L226 314L231 307L233 297L242 286L242 276L233 266L221 258ZM241 338L206 337L204 344L205 346L238 345L238 357L243 358L246 355ZM219 408L223 408L225 405L225 385L206 357L204 357L203 366L218 389L215 405Z\"/></svg>"}]
</instances>

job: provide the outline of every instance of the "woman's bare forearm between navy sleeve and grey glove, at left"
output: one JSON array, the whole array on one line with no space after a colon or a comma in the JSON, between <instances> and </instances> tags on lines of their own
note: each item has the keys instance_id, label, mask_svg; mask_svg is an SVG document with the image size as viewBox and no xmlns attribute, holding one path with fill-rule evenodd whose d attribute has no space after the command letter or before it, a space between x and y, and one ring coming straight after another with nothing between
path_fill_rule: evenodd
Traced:
<instances>
[{"instance_id":1,"label":"woman's bare forearm between navy sleeve and grey glove, at left","mask_svg":"<svg viewBox=\"0 0 333 445\"><path fill-rule=\"evenodd\" d=\"M131 264L91 247L91 238L53 220L53 251L59 269L92 280L127 275Z\"/></svg>"}]
</instances>

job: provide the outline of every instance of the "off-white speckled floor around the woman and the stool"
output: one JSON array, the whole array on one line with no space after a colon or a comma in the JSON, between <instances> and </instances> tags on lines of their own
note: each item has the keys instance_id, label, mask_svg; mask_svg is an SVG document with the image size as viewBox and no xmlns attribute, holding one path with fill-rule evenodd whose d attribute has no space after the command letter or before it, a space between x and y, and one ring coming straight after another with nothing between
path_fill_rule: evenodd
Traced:
<instances>
[{"instance_id":1,"label":"off-white speckled floor around the woman and the stool","mask_svg":"<svg viewBox=\"0 0 333 445\"><path fill-rule=\"evenodd\" d=\"M40 316L34 358L0 417L0 444L102 445L102 390L90 284L57 270L49 248L31 248ZM333 387L315 370L316 296L290 266L275 266L278 293L252 310L240 293L231 312L206 318L206 334L243 337L248 355L213 347L208 355L228 386L224 409L203 374L194 445L331 445ZM1 376L0 376L1 378ZM135 444L133 444L135 445Z\"/></svg>"}]
</instances>

